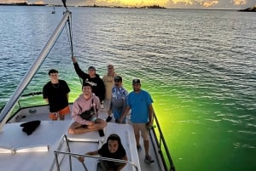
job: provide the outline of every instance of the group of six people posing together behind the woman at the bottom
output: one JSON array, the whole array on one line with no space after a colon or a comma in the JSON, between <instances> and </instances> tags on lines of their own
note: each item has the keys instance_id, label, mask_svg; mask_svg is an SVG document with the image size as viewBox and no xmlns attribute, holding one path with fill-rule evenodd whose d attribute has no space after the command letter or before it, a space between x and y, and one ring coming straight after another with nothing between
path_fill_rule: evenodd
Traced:
<instances>
[{"instance_id":1,"label":"group of six people posing together behind the woman at the bottom","mask_svg":"<svg viewBox=\"0 0 256 171\"><path fill-rule=\"evenodd\" d=\"M80 69L76 58L73 57L72 60L76 73L83 80L83 85L82 94L73 102L72 117L74 122L68 128L68 133L83 134L100 130L105 128L113 117L115 123L126 123L125 118L131 111L131 124L134 128L137 150L140 151L141 149L139 144L141 134L145 150L145 162L154 162L148 154L148 128L153 124L153 100L147 91L141 89L140 79L132 80L133 91L128 94L122 86L122 77L115 73L113 65L108 65L108 73L101 78L96 74L94 66L90 66L88 73L85 73ZM44 85L43 98L49 104L49 117L52 120L64 120L65 115L70 113L68 105L70 88L64 80L59 79L57 70L51 69L48 74L50 81ZM104 110L108 111L106 121L97 117L102 105ZM109 145L107 146L110 148ZM102 155L101 151L94 151L90 154L96 153Z\"/></svg>"}]
</instances>

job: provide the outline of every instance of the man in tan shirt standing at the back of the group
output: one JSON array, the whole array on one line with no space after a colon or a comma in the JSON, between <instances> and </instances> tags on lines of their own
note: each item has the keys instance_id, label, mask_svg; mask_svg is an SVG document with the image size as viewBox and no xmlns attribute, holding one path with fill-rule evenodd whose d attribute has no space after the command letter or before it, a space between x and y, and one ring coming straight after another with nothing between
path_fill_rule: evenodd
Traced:
<instances>
[{"instance_id":1,"label":"man in tan shirt standing at the back of the group","mask_svg":"<svg viewBox=\"0 0 256 171\"><path fill-rule=\"evenodd\" d=\"M106 88L106 94L105 94L105 100L103 103L104 109L108 111L111 101L111 95L112 95L112 88L114 86L114 77L117 74L114 71L114 67L112 64L108 64L108 73L102 77L103 83L105 84ZM107 118L107 122L109 122L112 119L112 117Z\"/></svg>"}]
</instances>

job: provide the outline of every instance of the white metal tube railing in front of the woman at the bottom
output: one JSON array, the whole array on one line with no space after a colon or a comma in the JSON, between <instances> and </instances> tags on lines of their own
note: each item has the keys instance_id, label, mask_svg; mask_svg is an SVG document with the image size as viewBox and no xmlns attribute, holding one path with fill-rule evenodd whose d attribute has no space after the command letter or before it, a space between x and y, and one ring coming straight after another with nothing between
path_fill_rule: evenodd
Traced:
<instances>
[{"instance_id":1,"label":"white metal tube railing in front of the woman at the bottom","mask_svg":"<svg viewBox=\"0 0 256 171\"><path fill-rule=\"evenodd\" d=\"M55 161L52 165L52 167L50 168L50 171L52 170L57 170L57 171L61 171L61 162L63 161L65 156L69 157L69 168L70 170L72 169L72 160L71 157L75 157L75 158L79 158L79 157L90 157L90 158L96 158L100 161L109 161L109 162L120 162L120 163L125 163L125 164L130 164L131 167L135 168L136 171L138 171L138 167L135 163L131 162L131 161L125 161L125 160L120 160L120 159L114 159L114 158L108 158L108 157L100 157L100 156L90 156L90 155L86 155L86 154L78 154L78 153L73 153L70 150L70 146L69 146L69 141L67 138L67 135L63 135L63 137L61 138L61 141L58 145L58 148L56 151L54 151L55 153ZM72 140L73 142L75 140ZM99 142L102 140L98 140ZM80 142L78 140L78 142ZM95 140L92 140L92 142L96 142ZM88 171L86 165L84 164L84 162L81 162L84 170Z\"/></svg>"}]
</instances>

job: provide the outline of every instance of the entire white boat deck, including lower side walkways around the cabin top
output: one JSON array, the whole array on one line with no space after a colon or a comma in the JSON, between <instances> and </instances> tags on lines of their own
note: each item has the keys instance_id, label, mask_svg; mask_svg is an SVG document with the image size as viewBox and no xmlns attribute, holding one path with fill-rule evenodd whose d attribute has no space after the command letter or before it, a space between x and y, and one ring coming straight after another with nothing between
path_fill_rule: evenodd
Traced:
<instances>
[{"instance_id":1,"label":"entire white boat deck, including lower side walkways around the cabin top","mask_svg":"<svg viewBox=\"0 0 256 171\"><path fill-rule=\"evenodd\" d=\"M72 106L71 106L72 107ZM2 133L0 133L0 147L12 147L17 149L15 153L1 153L0 154L0 167L5 171L30 171L30 170L57 170L55 164L55 152L62 151L67 152L61 142L63 141L63 135L67 135L68 144L70 146L70 152L74 154L83 155L87 151L96 151L100 148L102 143L105 143L109 134L119 134L122 144L125 147L128 160L137 166L132 167L131 164L126 164L123 171L131 170L160 170L159 164L156 160L157 154L154 153L152 145L150 145L150 155L154 161L151 164L143 162L144 150L137 152L136 141L133 134L133 129L130 124L118 124L108 123L108 126L104 128L105 136L101 137L98 131L86 133L86 134L68 134L67 128L73 122L70 115L66 117L65 121L49 121L48 106L40 106L38 108L27 108L22 111L16 117L5 124ZM105 119L107 114L100 112L100 117ZM27 135L22 132L20 123L27 121L40 120L39 127L31 134ZM65 144L65 143L64 143ZM143 147L143 140L141 140ZM18 149L25 147L42 147L38 151L32 152L19 152ZM45 151L45 146L49 147L49 151ZM64 145L65 146L65 145ZM1 152L1 149L0 149ZM61 157L61 154L58 155ZM63 156L63 154L62 154ZM78 157L78 156L76 156ZM60 163L60 170L101 170L97 168L98 158L85 157L84 165L77 160L76 157L71 157L71 163L69 162L69 156L65 155L64 159ZM15 164L13 164L15 163Z\"/></svg>"}]
</instances>

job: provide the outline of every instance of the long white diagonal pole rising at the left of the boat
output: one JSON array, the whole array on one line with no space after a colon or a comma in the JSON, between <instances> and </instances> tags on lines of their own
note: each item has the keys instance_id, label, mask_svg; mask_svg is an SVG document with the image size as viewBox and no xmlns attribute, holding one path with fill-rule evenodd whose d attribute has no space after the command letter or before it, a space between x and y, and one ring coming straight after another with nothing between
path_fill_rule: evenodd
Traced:
<instances>
[{"instance_id":1,"label":"long white diagonal pole rising at the left of the boat","mask_svg":"<svg viewBox=\"0 0 256 171\"><path fill-rule=\"evenodd\" d=\"M12 95L8 103L4 106L3 110L0 114L0 132L2 132L4 124L7 122L9 117L12 114L13 109L15 108L15 104L20 98L20 95L25 90L28 83L31 82L32 77L34 77L35 73L38 71L38 68L44 62L46 56L49 54L50 49L54 46L55 41L58 39L61 31L63 30L68 17L71 15L71 12L66 10L59 25L55 28L53 34L49 37L48 42L44 45L44 48L41 50L41 53L38 55L38 58L33 62L29 71L26 72L25 77L23 77L22 81L18 88L16 88L15 93Z\"/></svg>"}]
</instances>

